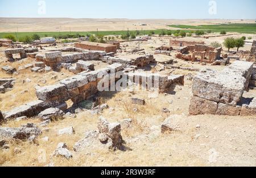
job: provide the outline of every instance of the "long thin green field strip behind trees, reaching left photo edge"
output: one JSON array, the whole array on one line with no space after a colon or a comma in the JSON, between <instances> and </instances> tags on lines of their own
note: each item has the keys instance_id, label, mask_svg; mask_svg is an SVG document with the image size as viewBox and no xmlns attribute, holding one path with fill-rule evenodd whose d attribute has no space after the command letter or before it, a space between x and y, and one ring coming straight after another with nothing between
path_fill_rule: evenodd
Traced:
<instances>
[{"instance_id":1,"label":"long thin green field strip behind trees, reaching left photo edge","mask_svg":"<svg viewBox=\"0 0 256 178\"><path fill-rule=\"evenodd\" d=\"M143 30L139 31L140 35L147 35L151 31L154 31L155 34L160 34L162 30ZM137 31L129 31L130 33L136 33ZM69 34L79 34L79 35L88 35L88 34L100 34L100 35L125 35L127 31L89 31L89 32L1 32L0 38L5 38L6 35L14 35L18 36L18 38L23 38L24 36L32 36L33 34L38 34L41 38L42 37L52 37L58 35L69 35Z\"/></svg>"}]
</instances>

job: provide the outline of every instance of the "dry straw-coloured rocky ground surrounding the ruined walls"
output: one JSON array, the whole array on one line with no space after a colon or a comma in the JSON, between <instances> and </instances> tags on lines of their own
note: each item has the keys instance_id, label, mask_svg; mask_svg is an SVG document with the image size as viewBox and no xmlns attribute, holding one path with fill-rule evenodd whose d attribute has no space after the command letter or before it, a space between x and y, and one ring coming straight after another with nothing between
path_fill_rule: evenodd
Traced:
<instances>
[{"instance_id":1,"label":"dry straw-coloured rocky ground surrounding the ruined walls","mask_svg":"<svg viewBox=\"0 0 256 178\"><path fill-rule=\"evenodd\" d=\"M141 42L140 45L147 53L153 54L154 49L164 43L168 44L168 38L153 38L148 42ZM125 51L136 48L137 45L138 42L121 43L122 52L118 52L117 55L130 55ZM46 50L49 48L54 47L46 47ZM60 45L57 45L56 48L60 48ZM18 68L20 65L32 62L32 59L28 58L14 63L6 63L3 49L5 48L0 48L1 66L8 64ZM174 59L174 56L155 55L155 58L159 61L165 61ZM205 67L199 63L192 64L179 59L174 60L177 61L174 64L177 67L199 69ZM106 65L101 61L92 62L95 68L102 68ZM217 70L224 68L210 65L207 67ZM256 165L254 151L256 148L255 117L189 116L188 107L192 96L192 78L196 72L163 69L162 64L151 65L143 69L147 72L162 74L184 74L185 85L176 86L172 92L159 94L159 96L155 96L149 91L103 92L97 96L99 98L98 104L105 104L100 110L76 110L75 114L65 114L64 117L54 119L54 121L44 125L42 125L40 118L3 123L1 127L17 127L19 131L22 130L24 133L34 128L33 130L37 130L39 135L36 139L31 138L33 135L26 135L28 141L24 142L17 142L14 139L1 141L0 139L2 144L0 145L0 165ZM11 76L16 78L13 89L0 94L0 110L10 110L15 106L35 100L35 85L51 85L72 75L73 73L65 69L60 72L50 71L44 74L32 73L30 69L19 74L16 73ZM10 77L9 74L2 71L0 71L0 76L1 78ZM249 92L245 93L245 96L256 97L255 89L251 88ZM133 97L142 98L146 104L133 104L131 102ZM70 102L69 106L71 105ZM109 126L108 131L105 132L98 128L100 118L105 118L109 122L107 124ZM170 118L174 123L175 131L162 133L161 126L167 118ZM118 125L112 124L115 122L121 123L121 130ZM34 125L27 125L27 123L34 123ZM40 133L41 131L42 133ZM98 140L98 135L94 136L94 134L101 134L101 139L107 140L107 143L101 143ZM122 142L122 147L112 147L109 150L109 147L119 145L120 140L125 141Z\"/></svg>"}]
</instances>

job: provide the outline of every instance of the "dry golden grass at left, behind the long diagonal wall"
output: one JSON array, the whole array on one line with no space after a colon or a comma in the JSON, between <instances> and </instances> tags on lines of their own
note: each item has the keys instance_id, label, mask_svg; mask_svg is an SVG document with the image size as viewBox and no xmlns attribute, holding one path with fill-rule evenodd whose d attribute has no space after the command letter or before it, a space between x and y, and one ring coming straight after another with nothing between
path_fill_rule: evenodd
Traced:
<instances>
[{"instance_id":1,"label":"dry golden grass at left, behind the long diagonal wall","mask_svg":"<svg viewBox=\"0 0 256 178\"><path fill-rule=\"evenodd\" d=\"M17 61L15 63L1 63L1 66L10 65L18 69L20 66L26 64L34 64L34 59L24 59L22 61ZM64 74L65 73L65 74ZM13 109L14 107L26 104L27 102L36 100L35 86L45 86L52 85L67 78L68 76L73 76L73 73L63 69L61 72L48 72L43 74L32 73L30 69L24 69L19 71L19 74L9 75L3 71L0 71L1 78L16 78L16 83L13 90L6 92L5 94L0 94L0 110L7 111ZM31 82L26 82L26 79L30 78Z\"/></svg>"}]
</instances>

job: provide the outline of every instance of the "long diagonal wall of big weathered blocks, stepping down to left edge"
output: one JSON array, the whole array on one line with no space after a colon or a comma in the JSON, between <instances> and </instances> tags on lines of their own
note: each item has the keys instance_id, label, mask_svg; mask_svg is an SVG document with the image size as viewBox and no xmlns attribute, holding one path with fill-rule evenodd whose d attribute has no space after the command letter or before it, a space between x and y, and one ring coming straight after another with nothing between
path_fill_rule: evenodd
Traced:
<instances>
[{"instance_id":1,"label":"long diagonal wall of big weathered blocks, stepping down to left edge","mask_svg":"<svg viewBox=\"0 0 256 178\"><path fill-rule=\"evenodd\" d=\"M98 82L102 79L101 74L122 71L121 64L112 64L107 68L92 72L82 72L76 76L61 80L58 84L36 88L38 100L18 106L13 110L2 112L5 119L18 117L33 117L50 107L57 107L61 110L67 109L65 101L77 102L88 100L98 92ZM118 78L117 78L118 79ZM106 86L107 87L107 86Z\"/></svg>"}]
</instances>

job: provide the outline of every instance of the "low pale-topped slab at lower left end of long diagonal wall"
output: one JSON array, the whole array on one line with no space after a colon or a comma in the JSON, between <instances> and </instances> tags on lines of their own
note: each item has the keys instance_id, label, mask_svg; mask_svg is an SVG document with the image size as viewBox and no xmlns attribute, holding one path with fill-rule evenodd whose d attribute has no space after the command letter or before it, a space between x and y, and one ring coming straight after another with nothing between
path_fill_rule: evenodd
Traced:
<instances>
[{"instance_id":1,"label":"low pale-topped slab at lower left end of long diagonal wall","mask_svg":"<svg viewBox=\"0 0 256 178\"><path fill-rule=\"evenodd\" d=\"M22 116L33 117L34 111L31 106L22 105L15 107L13 110L5 112L5 119L18 118Z\"/></svg>"}]
</instances>

